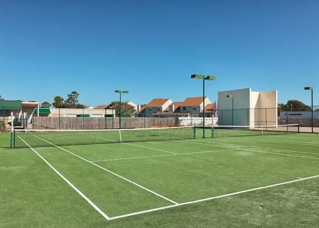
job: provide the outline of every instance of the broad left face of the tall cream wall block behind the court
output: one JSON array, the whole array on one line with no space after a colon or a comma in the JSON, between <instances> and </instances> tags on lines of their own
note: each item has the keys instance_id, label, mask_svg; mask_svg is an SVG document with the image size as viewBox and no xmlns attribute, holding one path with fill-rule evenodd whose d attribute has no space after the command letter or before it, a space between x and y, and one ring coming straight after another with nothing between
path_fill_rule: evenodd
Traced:
<instances>
[{"instance_id":1,"label":"broad left face of the tall cream wall block behind the court","mask_svg":"<svg viewBox=\"0 0 319 228\"><path fill-rule=\"evenodd\" d=\"M251 88L218 92L218 125L249 125ZM232 124L232 99L234 96L234 123Z\"/></svg>"}]
</instances>

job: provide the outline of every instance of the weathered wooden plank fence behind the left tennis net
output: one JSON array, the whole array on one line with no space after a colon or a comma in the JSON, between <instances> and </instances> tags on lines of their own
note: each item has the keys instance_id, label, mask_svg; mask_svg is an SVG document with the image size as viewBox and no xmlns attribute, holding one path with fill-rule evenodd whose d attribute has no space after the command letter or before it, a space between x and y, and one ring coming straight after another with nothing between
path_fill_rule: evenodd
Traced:
<instances>
[{"instance_id":1,"label":"weathered wooden plank fence behind the left tennis net","mask_svg":"<svg viewBox=\"0 0 319 228\"><path fill-rule=\"evenodd\" d=\"M172 127L175 117L121 117L121 128ZM119 117L33 117L33 129L116 129Z\"/></svg>"}]
</instances>

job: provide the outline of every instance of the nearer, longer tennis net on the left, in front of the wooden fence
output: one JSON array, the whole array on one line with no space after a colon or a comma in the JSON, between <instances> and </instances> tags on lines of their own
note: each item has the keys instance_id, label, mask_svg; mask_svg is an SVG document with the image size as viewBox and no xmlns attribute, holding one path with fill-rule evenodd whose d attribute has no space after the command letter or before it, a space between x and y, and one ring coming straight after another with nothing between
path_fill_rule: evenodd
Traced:
<instances>
[{"instance_id":1,"label":"nearer, longer tennis net on the left, in front of the wooden fence","mask_svg":"<svg viewBox=\"0 0 319 228\"><path fill-rule=\"evenodd\" d=\"M89 145L119 142L182 140L195 138L195 127L163 127L96 130L25 130L16 129L14 148ZM28 145L27 145L28 144Z\"/></svg>"}]
</instances>

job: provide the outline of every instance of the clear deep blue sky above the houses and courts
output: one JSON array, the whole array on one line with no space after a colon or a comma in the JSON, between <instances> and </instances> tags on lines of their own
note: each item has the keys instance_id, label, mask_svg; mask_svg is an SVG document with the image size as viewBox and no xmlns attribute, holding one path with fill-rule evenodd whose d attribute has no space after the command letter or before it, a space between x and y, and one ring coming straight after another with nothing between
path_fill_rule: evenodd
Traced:
<instances>
[{"instance_id":1,"label":"clear deep blue sky above the houses and courts","mask_svg":"<svg viewBox=\"0 0 319 228\"><path fill-rule=\"evenodd\" d=\"M1 0L0 95L97 106L278 90L319 105L319 0ZM12 82L13 81L13 82ZM11 85L14 85L12 87Z\"/></svg>"}]
</instances>

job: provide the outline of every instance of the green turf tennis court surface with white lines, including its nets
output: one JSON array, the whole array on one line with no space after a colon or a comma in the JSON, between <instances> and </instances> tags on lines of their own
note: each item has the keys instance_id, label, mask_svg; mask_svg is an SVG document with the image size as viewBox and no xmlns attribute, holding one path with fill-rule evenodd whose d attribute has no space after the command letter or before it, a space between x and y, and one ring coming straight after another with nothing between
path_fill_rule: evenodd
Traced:
<instances>
[{"instance_id":1,"label":"green turf tennis court surface with white lines, including its nets","mask_svg":"<svg viewBox=\"0 0 319 228\"><path fill-rule=\"evenodd\" d=\"M16 132L16 148L1 151L6 223L291 227L297 216L317 226L319 135L259 132Z\"/></svg>"}]
</instances>

